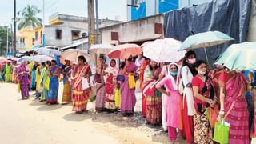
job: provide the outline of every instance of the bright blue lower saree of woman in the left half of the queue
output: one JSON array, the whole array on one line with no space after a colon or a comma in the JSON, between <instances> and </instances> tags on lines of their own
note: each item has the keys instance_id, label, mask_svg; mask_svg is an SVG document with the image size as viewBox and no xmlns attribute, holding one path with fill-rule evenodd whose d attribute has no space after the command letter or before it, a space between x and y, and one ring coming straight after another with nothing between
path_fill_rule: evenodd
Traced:
<instances>
[{"instance_id":1,"label":"bright blue lower saree of woman in the left half of the queue","mask_svg":"<svg viewBox=\"0 0 256 144\"><path fill-rule=\"evenodd\" d=\"M58 102L58 77L50 77L50 89L46 102L51 104Z\"/></svg>"}]
</instances>

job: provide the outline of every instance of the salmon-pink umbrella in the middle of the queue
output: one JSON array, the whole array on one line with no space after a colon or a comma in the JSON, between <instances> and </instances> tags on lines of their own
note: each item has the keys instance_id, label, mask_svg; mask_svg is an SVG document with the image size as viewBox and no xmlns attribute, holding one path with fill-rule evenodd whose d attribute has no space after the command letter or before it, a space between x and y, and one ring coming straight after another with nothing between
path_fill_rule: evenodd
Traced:
<instances>
[{"instance_id":1,"label":"salmon-pink umbrella in the middle of the queue","mask_svg":"<svg viewBox=\"0 0 256 144\"><path fill-rule=\"evenodd\" d=\"M142 47L136 44L123 44L116 46L113 50L111 50L107 56L109 58L120 58L125 59L131 56L136 56L138 54L142 54Z\"/></svg>"}]
</instances>

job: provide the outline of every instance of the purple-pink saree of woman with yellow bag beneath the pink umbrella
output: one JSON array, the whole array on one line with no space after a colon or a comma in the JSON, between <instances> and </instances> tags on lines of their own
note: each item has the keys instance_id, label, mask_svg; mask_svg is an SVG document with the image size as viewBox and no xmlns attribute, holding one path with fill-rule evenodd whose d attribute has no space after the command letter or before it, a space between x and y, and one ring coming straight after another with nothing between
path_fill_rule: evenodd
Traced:
<instances>
[{"instance_id":1,"label":"purple-pink saree of woman with yellow bag beneath the pink umbrella","mask_svg":"<svg viewBox=\"0 0 256 144\"><path fill-rule=\"evenodd\" d=\"M137 66L134 62L130 62L125 70L127 73L134 73L137 69ZM135 97L135 88L129 89L129 79L128 74L124 74L124 81L120 81L120 89L121 89L121 114L134 114L134 106L136 104Z\"/></svg>"}]
</instances>

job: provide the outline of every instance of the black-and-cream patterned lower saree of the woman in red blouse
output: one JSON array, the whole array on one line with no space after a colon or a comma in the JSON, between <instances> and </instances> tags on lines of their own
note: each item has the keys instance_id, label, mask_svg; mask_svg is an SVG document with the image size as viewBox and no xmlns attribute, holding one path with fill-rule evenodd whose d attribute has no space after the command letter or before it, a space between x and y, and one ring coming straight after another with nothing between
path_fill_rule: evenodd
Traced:
<instances>
[{"instance_id":1,"label":"black-and-cream patterned lower saree of the woman in red blouse","mask_svg":"<svg viewBox=\"0 0 256 144\"><path fill-rule=\"evenodd\" d=\"M214 143L210 122L205 114L194 114L194 143Z\"/></svg>"}]
</instances>

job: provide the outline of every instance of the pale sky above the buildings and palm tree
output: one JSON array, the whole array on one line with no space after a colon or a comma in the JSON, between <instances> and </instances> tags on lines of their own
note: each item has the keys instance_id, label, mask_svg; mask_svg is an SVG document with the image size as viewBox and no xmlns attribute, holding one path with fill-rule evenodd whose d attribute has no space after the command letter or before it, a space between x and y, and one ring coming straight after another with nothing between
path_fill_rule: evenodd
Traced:
<instances>
[{"instance_id":1,"label":"pale sky above the buildings and palm tree","mask_svg":"<svg viewBox=\"0 0 256 144\"><path fill-rule=\"evenodd\" d=\"M10 25L11 18L14 16L14 0L0 0L0 26ZM26 5L35 5L42 10L43 0L16 0L17 12ZM121 21L127 19L126 0L98 0L99 18L118 18ZM45 0L46 24L49 16L58 14L69 14L87 17L87 0ZM42 18L42 12L38 14Z\"/></svg>"}]
</instances>

